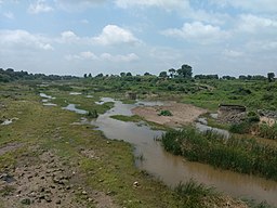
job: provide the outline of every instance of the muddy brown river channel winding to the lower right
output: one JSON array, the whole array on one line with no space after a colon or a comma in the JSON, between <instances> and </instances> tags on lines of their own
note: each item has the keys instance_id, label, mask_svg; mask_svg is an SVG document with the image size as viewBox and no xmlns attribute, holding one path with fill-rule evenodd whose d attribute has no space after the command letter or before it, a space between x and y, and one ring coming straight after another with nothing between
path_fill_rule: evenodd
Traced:
<instances>
[{"instance_id":1,"label":"muddy brown river channel winding to the lower right","mask_svg":"<svg viewBox=\"0 0 277 208\"><path fill-rule=\"evenodd\" d=\"M115 107L101 115L92 125L97 126L108 139L124 140L134 144L135 155L143 155L144 158L136 161L138 168L156 176L169 186L175 186L180 181L194 178L232 196L253 198L258 202L266 200L277 206L277 182L186 161L183 157L167 153L159 142L154 141L155 136L161 135L161 131L154 131L145 125L137 126L109 118L119 114L130 116L133 107L135 105L115 101Z\"/></svg>"}]
</instances>

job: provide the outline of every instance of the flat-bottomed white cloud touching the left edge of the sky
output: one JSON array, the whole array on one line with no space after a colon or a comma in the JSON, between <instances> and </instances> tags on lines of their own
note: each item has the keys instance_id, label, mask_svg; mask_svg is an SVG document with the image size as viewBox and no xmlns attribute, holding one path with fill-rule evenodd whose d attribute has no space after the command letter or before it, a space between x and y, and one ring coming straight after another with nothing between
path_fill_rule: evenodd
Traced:
<instances>
[{"instance_id":1,"label":"flat-bottomed white cloud touching the left edge of the sky","mask_svg":"<svg viewBox=\"0 0 277 208\"><path fill-rule=\"evenodd\" d=\"M41 35L32 35L26 30L0 30L0 46L16 49L53 50L50 40Z\"/></svg>"}]
</instances>

